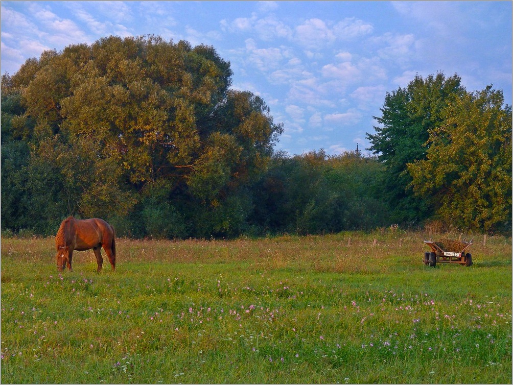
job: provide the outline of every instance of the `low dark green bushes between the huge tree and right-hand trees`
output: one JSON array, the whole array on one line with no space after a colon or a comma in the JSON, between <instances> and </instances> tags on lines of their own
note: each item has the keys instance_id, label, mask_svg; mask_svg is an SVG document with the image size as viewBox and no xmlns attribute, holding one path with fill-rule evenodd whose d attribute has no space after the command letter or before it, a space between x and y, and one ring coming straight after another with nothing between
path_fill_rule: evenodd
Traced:
<instances>
[{"instance_id":1,"label":"low dark green bushes between the huge tree and right-hand trees","mask_svg":"<svg viewBox=\"0 0 513 385\"><path fill-rule=\"evenodd\" d=\"M277 154L255 188L259 205L250 221L264 232L299 234L387 225L388 208L378 184L382 172L376 158L357 152Z\"/></svg>"}]
</instances>

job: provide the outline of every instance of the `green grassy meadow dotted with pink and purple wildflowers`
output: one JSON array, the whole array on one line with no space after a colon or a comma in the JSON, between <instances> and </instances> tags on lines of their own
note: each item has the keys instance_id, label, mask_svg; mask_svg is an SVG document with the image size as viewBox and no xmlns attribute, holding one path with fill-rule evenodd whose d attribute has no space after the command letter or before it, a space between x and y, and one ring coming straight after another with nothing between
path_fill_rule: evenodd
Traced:
<instances>
[{"instance_id":1,"label":"green grassy meadow dotted with pink and purple wildflowers","mask_svg":"<svg viewBox=\"0 0 513 385\"><path fill-rule=\"evenodd\" d=\"M86 251L60 274L53 238L3 238L2 383L511 383L511 238L476 236L470 268L424 251L117 239L115 272Z\"/></svg>"}]
</instances>

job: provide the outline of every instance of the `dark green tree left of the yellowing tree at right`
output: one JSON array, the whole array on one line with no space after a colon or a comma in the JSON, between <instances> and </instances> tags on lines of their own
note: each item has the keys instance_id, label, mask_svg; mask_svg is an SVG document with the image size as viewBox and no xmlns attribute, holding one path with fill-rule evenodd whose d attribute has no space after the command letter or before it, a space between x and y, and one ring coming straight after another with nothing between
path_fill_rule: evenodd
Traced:
<instances>
[{"instance_id":1,"label":"dark green tree left of the yellowing tree at right","mask_svg":"<svg viewBox=\"0 0 513 385\"><path fill-rule=\"evenodd\" d=\"M391 220L418 222L431 214L429 202L409 188L412 178L406 165L425 158L429 131L440 126L444 109L464 93L458 75L446 78L443 73L417 75L405 88L387 92L382 115L374 116L376 133L367 137L369 150L385 166L381 183L393 209Z\"/></svg>"}]
</instances>

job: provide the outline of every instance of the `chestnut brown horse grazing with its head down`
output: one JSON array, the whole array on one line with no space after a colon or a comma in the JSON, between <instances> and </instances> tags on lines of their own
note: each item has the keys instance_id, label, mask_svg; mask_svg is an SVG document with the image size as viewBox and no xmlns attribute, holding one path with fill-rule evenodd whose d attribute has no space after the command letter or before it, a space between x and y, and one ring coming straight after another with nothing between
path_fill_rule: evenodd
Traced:
<instances>
[{"instance_id":1,"label":"chestnut brown horse grazing with its head down","mask_svg":"<svg viewBox=\"0 0 513 385\"><path fill-rule=\"evenodd\" d=\"M69 271L73 271L71 268L73 250L93 249L98 264L97 271L100 272L103 265L102 247L109 257L112 270L115 270L115 239L114 228L103 219L75 219L73 216L64 219L55 236L55 247L57 248L55 258L58 271L63 271L66 265L68 265Z\"/></svg>"}]
</instances>

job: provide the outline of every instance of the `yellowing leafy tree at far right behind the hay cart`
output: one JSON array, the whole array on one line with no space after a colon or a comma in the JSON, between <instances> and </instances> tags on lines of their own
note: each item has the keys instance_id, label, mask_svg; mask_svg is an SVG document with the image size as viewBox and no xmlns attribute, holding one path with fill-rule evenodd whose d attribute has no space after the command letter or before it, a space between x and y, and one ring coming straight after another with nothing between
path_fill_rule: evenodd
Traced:
<instances>
[{"instance_id":1,"label":"yellowing leafy tree at far right behind the hay cart","mask_svg":"<svg viewBox=\"0 0 513 385\"><path fill-rule=\"evenodd\" d=\"M429 130L426 159L407 165L413 191L449 224L511 230L511 106L502 91L466 93Z\"/></svg>"}]
</instances>

